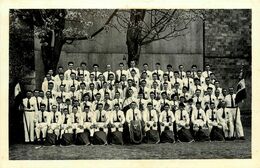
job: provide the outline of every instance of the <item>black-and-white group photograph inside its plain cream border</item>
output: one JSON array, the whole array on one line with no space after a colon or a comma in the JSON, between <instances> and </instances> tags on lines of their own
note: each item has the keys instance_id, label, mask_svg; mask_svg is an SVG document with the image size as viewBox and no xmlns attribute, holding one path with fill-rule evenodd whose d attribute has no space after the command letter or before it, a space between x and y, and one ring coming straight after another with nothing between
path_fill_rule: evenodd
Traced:
<instances>
[{"instance_id":1,"label":"black-and-white group photograph inside its plain cream border","mask_svg":"<svg viewBox=\"0 0 260 168\"><path fill-rule=\"evenodd\" d=\"M251 159L251 18L9 9L9 159Z\"/></svg>"}]
</instances>

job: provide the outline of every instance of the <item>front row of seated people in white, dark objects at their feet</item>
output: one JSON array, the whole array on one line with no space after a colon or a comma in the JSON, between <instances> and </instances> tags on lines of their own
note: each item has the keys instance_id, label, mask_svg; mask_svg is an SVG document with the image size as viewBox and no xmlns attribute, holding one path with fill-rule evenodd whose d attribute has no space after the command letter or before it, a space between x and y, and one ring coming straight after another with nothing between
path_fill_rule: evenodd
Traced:
<instances>
[{"instance_id":1,"label":"front row of seated people in white, dark objects at their feet","mask_svg":"<svg viewBox=\"0 0 260 168\"><path fill-rule=\"evenodd\" d=\"M84 106L79 110L73 106L71 111L64 108L59 111L52 105L48 112L45 104L40 104L40 111L35 115L35 133L37 143L46 145L90 145L124 143L163 143L193 141L223 141L233 137L233 119L225 101L218 107L210 103L205 112L201 103L188 112L185 104L173 112L165 104L161 112L153 109L152 103L140 111L135 101L128 109L120 110L119 104L112 108L102 103L96 110Z\"/></svg>"}]
</instances>

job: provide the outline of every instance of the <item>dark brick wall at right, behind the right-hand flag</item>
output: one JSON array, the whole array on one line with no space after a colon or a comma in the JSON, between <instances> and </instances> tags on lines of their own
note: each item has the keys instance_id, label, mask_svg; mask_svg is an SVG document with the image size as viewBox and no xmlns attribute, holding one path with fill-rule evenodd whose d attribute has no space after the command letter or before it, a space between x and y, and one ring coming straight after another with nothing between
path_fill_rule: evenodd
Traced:
<instances>
[{"instance_id":1,"label":"dark brick wall at right, behind the right-hand flag","mask_svg":"<svg viewBox=\"0 0 260 168\"><path fill-rule=\"evenodd\" d=\"M209 10L205 20L205 63L210 64L222 86L236 86L241 65L246 67L247 99L251 109L251 10Z\"/></svg>"}]
</instances>

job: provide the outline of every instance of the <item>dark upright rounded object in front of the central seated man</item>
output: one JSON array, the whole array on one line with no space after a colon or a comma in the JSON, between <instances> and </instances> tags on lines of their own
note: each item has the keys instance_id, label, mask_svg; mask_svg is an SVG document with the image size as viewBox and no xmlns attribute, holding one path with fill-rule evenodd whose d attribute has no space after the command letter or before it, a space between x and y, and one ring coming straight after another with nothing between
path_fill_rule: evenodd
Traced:
<instances>
[{"instance_id":1,"label":"dark upright rounded object in front of the central seated man","mask_svg":"<svg viewBox=\"0 0 260 168\"><path fill-rule=\"evenodd\" d=\"M130 141L134 144L140 144L143 140L142 123L140 120L130 122Z\"/></svg>"}]
</instances>

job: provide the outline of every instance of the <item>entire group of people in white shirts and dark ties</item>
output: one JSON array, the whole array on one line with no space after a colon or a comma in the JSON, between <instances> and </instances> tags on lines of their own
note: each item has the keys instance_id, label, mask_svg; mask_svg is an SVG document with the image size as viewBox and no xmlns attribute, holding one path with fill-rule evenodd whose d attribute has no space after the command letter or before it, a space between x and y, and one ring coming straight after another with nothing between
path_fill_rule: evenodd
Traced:
<instances>
[{"instance_id":1,"label":"entire group of people in white shirts and dark ties","mask_svg":"<svg viewBox=\"0 0 260 168\"><path fill-rule=\"evenodd\" d=\"M25 142L46 145L244 140L233 87L222 88L210 65L150 71L131 61L112 71L82 62L49 70L41 90L27 91Z\"/></svg>"}]
</instances>

